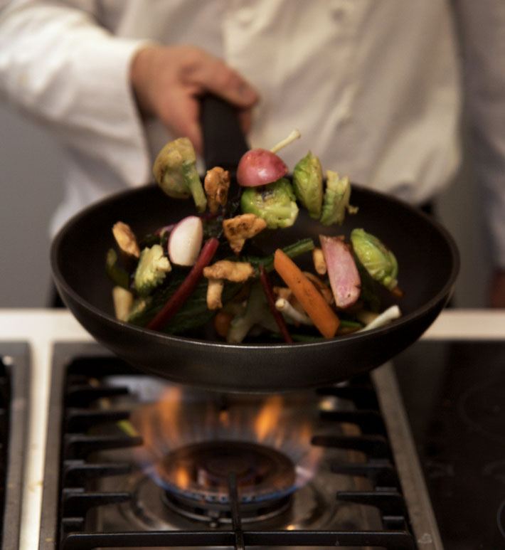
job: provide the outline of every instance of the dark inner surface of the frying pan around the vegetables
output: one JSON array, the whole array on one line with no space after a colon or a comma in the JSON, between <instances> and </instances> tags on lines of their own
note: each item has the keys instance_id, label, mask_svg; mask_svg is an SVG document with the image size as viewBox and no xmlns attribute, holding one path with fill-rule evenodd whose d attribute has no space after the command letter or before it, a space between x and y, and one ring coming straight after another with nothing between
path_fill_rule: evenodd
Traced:
<instances>
[{"instance_id":1,"label":"dark inner surface of the frying pan around the vegetables","mask_svg":"<svg viewBox=\"0 0 505 550\"><path fill-rule=\"evenodd\" d=\"M321 226L301 208L292 228L263 231L255 238L255 245L270 253L300 238L312 237L319 243L319 234L349 238L353 228L363 228L381 238L398 258L398 281L404 292L399 305L404 316L445 290L454 278L457 258L445 232L430 218L359 186L353 186L351 203L358 206L358 213L346 216L343 226ZM194 213L191 201L170 199L154 185L96 203L73 218L58 235L53 250L56 280L79 300L112 316L112 284L105 275L105 256L115 246L113 224L124 221L138 236L144 236ZM303 261L310 263L310 255L302 260L302 267ZM382 298L384 307L395 302L388 292L383 292Z\"/></svg>"}]
</instances>

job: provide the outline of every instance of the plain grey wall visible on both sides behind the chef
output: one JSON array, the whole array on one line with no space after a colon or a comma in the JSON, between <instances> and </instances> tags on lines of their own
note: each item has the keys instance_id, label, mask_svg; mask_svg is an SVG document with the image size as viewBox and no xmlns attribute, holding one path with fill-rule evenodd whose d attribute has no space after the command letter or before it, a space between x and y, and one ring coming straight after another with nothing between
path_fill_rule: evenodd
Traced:
<instances>
[{"instance_id":1,"label":"plain grey wall visible on both sides behind the chef","mask_svg":"<svg viewBox=\"0 0 505 550\"><path fill-rule=\"evenodd\" d=\"M46 132L2 103L0 174L0 307L45 307L50 285L47 226L63 192L61 152ZM486 305L489 263L478 198L466 162L438 205L462 255L457 307Z\"/></svg>"}]
</instances>

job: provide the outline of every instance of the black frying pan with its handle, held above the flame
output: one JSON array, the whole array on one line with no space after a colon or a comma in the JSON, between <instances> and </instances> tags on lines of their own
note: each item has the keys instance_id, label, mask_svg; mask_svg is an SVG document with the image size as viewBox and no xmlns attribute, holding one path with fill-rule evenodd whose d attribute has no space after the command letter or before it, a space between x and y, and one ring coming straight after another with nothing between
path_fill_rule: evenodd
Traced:
<instances>
[{"instance_id":1,"label":"black frying pan with its handle, held above the flame","mask_svg":"<svg viewBox=\"0 0 505 550\"><path fill-rule=\"evenodd\" d=\"M204 102L206 165L234 169L247 144L235 115L213 98ZM337 167L338 168L338 167ZM262 246L274 250L297 238L346 234L363 227L398 258L398 302L403 317L387 327L308 344L230 345L170 336L115 319L105 255L114 245L111 228L129 223L142 236L194 214L192 201L169 199L157 186L111 196L78 213L58 233L51 249L55 284L65 304L98 342L117 356L171 381L220 391L268 392L324 386L376 366L413 344L449 299L459 269L454 241L417 209L376 191L353 186L359 207L342 227L325 228L300 212L289 229L263 232Z\"/></svg>"}]
</instances>

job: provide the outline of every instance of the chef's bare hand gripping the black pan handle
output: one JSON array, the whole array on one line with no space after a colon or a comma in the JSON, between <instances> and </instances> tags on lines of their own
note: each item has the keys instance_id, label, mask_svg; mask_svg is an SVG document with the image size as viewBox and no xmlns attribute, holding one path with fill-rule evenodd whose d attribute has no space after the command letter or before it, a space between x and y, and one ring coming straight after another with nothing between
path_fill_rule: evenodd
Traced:
<instances>
[{"instance_id":1,"label":"chef's bare hand gripping the black pan handle","mask_svg":"<svg viewBox=\"0 0 505 550\"><path fill-rule=\"evenodd\" d=\"M130 82L144 115L152 115L176 136L203 149L198 97L211 92L240 110L244 132L250 127L257 92L223 60L193 46L147 46L132 60Z\"/></svg>"}]
</instances>

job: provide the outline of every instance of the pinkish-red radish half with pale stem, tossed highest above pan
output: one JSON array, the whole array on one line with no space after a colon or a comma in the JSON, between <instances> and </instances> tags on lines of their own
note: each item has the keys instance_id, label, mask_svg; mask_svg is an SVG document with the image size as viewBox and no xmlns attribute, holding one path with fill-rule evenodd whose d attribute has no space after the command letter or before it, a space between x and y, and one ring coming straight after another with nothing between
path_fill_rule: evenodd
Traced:
<instances>
[{"instance_id":1,"label":"pinkish-red radish half with pale stem, tossed highest above pan","mask_svg":"<svg viewBox=\"0 0 505 550\"><path fill-rule=\"evenodd\" d=\"M293 130L286 139L282 139L270 151L267 149L250 149L238 162L237 181L243 187L257 187L271 184L287 174L287 166L277 151L286 147L300 137L298 130Z\"/></svg>"}]
</instances>

